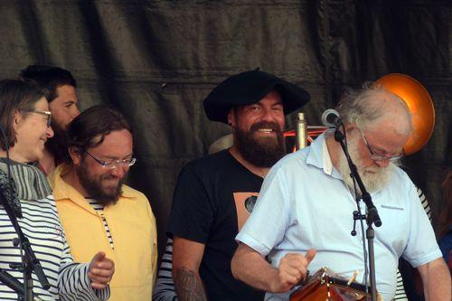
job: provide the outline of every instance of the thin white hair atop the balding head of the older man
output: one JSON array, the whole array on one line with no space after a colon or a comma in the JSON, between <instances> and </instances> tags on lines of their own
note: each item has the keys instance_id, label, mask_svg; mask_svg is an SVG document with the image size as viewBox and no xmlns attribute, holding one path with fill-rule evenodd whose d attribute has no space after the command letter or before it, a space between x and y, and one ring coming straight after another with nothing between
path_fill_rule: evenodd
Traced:
<instances>
[{"instance_id":1,"label":"thin white hair atop the balding head of the older man","mask_svg":"<svg viewBox=\"0 0 452 301\"><path fill-rule=\"evenodd\" d=\"M371 84L365 83L363 89L347 89L345 91L336 107L337 112L343 118L344 122L355 124L361 128L367 128L381 122L385 118L393 118L392 107L381 105L381 100L383 99L376 98L379 95L386 95L391 96L392 99L396 99L400 108L406 112L411 131L411 113L405 101L391 91ZM399 118L393 120L396 121L396 119Z\"/></svg>"}]
</instances>

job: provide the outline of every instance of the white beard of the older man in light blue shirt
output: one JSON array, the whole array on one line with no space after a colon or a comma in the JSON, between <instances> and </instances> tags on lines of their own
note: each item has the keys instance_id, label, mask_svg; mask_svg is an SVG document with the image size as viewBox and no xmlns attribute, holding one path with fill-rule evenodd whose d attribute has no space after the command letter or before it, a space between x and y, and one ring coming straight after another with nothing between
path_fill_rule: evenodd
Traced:
<instances>
[{"instance_id":1,"label":"white beard of the older man in light blue shirt","mask_svg":"<svg viewBox=\"0 0 452 301\"><path fill-rule=\"evenodd\" d=\"M394 174L395 169L399 165L398 162L392 163L387 167L380 167L378 165L372 165L370 167L363 168L362 160L358 154L358 143L356 139L348 139L348 152L354 165L358 169L358 174L360 174L363 180L364 186L368 193L376 193L380 191L387 183L390 182L392 174ZM344 153L341 152L339 159L339 164L337 166L338 171L342 174L345 184L353 189L353 179L350 176L350 168L347 164ZM358 193L361 194L359 187L356 187Z\"/></svg>"}]
</instances>

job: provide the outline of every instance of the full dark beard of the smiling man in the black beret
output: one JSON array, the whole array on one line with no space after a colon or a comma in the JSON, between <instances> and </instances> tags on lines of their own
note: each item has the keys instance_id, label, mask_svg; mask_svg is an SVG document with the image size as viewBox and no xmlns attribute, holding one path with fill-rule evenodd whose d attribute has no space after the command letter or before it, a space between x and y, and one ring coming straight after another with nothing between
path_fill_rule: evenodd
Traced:
<instances>
[{"instance_id":1,"label":"full dark beard of the smiling man in the black beret","mask_svg":"<svg viewBox=\"0 0 452 301\"><path fill-rule=\"evenodd\" d=\"M271 128L276 136L257 136L259 128ZM286 155L284 136L277 123L259 122L249 131L234 127L234 136L240 155L252 165L271 167Z\"/></svg>"}]
</instances>

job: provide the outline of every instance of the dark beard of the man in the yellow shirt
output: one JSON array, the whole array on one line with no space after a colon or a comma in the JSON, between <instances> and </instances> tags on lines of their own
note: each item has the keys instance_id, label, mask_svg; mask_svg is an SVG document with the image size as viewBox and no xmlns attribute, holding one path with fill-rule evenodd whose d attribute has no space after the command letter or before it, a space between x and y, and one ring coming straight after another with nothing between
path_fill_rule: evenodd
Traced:
<instances>
[{"instance_id":1,"label":"dark beard of the man in the yellow shirt","mask_svg":"<svg viewBox=\"0 0 452 301\"><path fill-rule=\"evenodd\" d=\"M124 182L124 178L119 179L113 192L111 192L111 190L108 192L102 187L102 182L115 178L114 176L108 173L92 176L89 174L89 167L86 165L84 157L81 159L80 165L74 165L74 168L81 185L86 192L89 193L90 197L106 206L108 204L115 204L118 202L119 195L122 193L122 183Z\"/></svg>"}]
</instances>

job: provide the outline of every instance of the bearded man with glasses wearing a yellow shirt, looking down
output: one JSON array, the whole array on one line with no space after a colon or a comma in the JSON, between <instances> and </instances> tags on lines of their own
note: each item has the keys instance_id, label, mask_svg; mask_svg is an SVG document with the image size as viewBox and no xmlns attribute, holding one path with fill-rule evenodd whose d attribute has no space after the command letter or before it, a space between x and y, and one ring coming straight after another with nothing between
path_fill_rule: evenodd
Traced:
<instances>
[{"instance_id":1,"label":"bearded man with glasses wearing a yellow shirt, looking down","mask_svg":"<svg viewBox=\"0 0 452 301\"><path fill-rule=\"evenodd\" d=\"M155 217L143 193L123 184L132 129L115 109L95 106L68 129L71 162L49 176L75 260L97 251L115 261L110 300L150 300L157 259Z\"/></svg>"}]
</instances>

